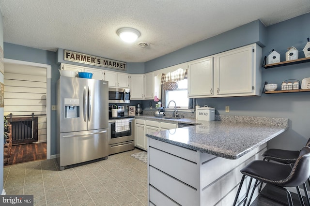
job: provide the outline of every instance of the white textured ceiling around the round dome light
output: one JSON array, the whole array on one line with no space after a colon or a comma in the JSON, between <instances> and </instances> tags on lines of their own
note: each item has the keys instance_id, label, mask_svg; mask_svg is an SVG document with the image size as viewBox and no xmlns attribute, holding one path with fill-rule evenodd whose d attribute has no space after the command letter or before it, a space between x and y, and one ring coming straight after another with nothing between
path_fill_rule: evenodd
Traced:
<instances>
[{"instance_id":1,"label":"white textured ceiling around the round dome light","mask_svg":"<svg viewBox=\"0 0 310 206\"><path fill-rule=\"evenodd\" d=\"M0 9L4 42L145 62L257 19L269 26L308 13L310 0L0 0ZM123 43L122 27L140 38Z\"/></svg>"}]
</instances>

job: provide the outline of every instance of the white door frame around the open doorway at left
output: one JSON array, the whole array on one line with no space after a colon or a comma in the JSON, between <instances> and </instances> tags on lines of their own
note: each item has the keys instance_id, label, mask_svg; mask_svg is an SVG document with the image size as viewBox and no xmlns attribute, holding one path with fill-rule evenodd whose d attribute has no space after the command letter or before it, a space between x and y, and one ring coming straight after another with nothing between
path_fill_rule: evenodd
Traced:
<instances>
[{"instance_id":1,"label":"white door frame around the open doorway at left","mask_svg":"<svg viewBox=\"0 0 310 206\"><path fill-rule=\"evenodd\" d=\"M51 118L51 66L48 64L20 61L15 59L4 59L4 63L44 67L47 69L47 160L50 159L50 118Z\"/></svg>"}]
</instances>

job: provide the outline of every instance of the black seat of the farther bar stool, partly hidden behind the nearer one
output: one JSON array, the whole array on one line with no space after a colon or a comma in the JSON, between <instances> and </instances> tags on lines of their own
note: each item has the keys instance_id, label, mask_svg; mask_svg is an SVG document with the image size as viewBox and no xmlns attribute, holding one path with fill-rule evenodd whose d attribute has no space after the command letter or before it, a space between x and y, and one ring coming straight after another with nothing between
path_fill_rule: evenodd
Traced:
<instances>
[{"instance_id":1,"label":"black seat of the farther bar stool, partly hidden behind the nearer one","mask_svg":"<svg viewBox=\"0 0 310 206\"><path fill-rule=\"evenodd\" d=\"M300 151L283 149L268 149L262 154L262 156L276 162L294 163L299 156L299 152Z\"/></svg>"}]
</instances>

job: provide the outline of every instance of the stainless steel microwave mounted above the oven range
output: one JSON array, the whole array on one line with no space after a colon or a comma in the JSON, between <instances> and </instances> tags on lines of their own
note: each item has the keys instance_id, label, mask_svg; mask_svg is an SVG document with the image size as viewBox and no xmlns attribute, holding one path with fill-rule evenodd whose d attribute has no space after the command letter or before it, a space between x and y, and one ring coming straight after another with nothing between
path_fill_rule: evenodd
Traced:
<instances>
[{"instance_id":1,"label":"stainless steel microwave mounted above the oven range","mask_svg":"<svg viewBox=\"0 0 310 206\"><path fill-rule=\"evenodd\" d=\"M130 89L109 88L109 103L130 103Z\"/></svg>"}]
</instances>

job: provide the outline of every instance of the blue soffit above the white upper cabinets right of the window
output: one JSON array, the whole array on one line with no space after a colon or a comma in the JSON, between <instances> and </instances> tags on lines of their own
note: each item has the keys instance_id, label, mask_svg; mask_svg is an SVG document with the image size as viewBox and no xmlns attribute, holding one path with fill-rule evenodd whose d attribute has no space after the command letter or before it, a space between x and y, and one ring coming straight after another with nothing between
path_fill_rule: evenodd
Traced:
<instances>
[{"instance_id":1,"label":"blue soffit above the white upper cabinets right of the window","mask_svg":"<svg viewBox=\"0 0 310 206\"><path fill-rule=\"evenodd\" d=\"M265 30L260 20L250 22L196 44L186 46L165 56L147 61L145 62L145 73L252 43L264 46L266 41Z\"/></svg>"}]
</instances>

